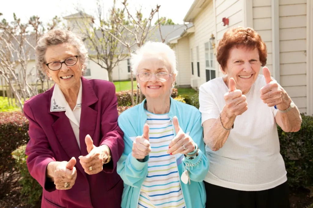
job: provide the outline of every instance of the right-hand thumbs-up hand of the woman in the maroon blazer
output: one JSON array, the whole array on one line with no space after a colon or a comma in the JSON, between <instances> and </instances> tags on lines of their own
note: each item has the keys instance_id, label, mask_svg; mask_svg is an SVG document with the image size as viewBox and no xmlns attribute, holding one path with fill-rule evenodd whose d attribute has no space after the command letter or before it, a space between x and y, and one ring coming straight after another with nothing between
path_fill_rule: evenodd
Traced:
<instances>
[{"instance_id":1,"label":"right-hand thumbs-up hand of the woman in the maroon blazer","mask_svg":"<svg viewBox=\"0 0 313 208\"><path fill-rule=\"evenodd\" d=\"M79 156L80 164L83 166L85 173L89 175L97 174L103 170L104 161L110 154L103 145L96 147L89 135L85 137L88 155ZM90 171L89 167L92 167Z\"/></svg>"}]
</instances>

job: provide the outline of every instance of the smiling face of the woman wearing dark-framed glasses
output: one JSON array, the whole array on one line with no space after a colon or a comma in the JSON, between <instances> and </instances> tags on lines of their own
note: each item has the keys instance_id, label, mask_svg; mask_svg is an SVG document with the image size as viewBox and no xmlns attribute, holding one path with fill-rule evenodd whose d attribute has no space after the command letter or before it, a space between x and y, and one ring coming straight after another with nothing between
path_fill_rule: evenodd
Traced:
<instances>
[{"instance_id":1,"label":"smiling face of the woman wearing dark-framed glasses","mask_svg":"<svg viewBox=\"0 0 313 208\"><path fill-rule=\"evenodd\" d=\"M65 59L76 55L77 51L72 45L69 43L62 43L56 46L49 46L45 53L45 59L46 63L54 61L63 62ZM80 77L82 76L82 68L83 65L78 59L77 63L73 66L67 66L65 63L62 63L62 67L57 71L50 70L47 67L47 75L51 77L61 89L79 87Z\"/></svg>"}]
</instances>

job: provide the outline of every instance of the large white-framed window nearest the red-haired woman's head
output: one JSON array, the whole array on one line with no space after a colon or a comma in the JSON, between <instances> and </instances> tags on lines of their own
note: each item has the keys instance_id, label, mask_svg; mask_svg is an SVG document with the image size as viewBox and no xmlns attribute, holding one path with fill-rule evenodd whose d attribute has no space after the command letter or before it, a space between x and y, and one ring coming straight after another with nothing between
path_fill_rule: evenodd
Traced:
<instances>
[{"instance_id":1,"label":"large white-framed window nearest the red-haired woman's head","mask_svg":"<svg viewBox=\"0 0 313 208\"><path fill-rule=\"evenodd\" d=\"M205 48L205 74L207 82L215 78L215 59L211 42L204 43Z\"/></svg>"}]
</instances>

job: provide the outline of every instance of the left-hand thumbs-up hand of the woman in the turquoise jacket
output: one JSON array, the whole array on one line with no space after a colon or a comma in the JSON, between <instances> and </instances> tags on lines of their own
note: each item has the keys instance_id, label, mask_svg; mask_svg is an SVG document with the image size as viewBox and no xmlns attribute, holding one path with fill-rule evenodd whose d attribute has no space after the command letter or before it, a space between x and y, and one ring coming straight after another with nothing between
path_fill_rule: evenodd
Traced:
<instances>
[{"instance_id":1,"label":"left-hand thumbs-up hand of the woman in the turquoise jacket","mask_svg":"<svg viewBox=\"0 0 313 208\"><path fill-rule=\"evenodd\" d=\"M136 140L133 142L131 155L136 159L144 159L150 152L149 125L145 124L143 126L142 136L137 136Z\"/></svg>"}]
</instances>

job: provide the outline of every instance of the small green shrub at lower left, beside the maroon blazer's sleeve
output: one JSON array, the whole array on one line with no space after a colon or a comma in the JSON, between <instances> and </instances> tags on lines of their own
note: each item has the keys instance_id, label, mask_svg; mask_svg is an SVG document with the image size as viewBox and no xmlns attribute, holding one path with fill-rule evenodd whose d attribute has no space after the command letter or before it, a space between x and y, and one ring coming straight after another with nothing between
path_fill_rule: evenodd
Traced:
<instances>
[{"instance_id":1,"label":"small green shrub at lower left, beside the maroon blazer's sleeve","mask_svg":"<svg viewBox=\"0 0 313 208\"><path fill-rule=\"evenodd\" d=\"M18 149L12 152L12 156L15 159L16 170L20 173L21 179L18 181L22 188L20 193L22 194L22 202L28 205L37 205L41 200L42 187L40 184L29 174L25 154L26 145L18 147Z\"/></svg>"}]
</instances>

